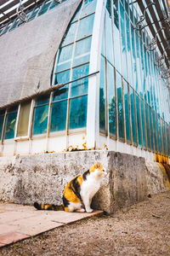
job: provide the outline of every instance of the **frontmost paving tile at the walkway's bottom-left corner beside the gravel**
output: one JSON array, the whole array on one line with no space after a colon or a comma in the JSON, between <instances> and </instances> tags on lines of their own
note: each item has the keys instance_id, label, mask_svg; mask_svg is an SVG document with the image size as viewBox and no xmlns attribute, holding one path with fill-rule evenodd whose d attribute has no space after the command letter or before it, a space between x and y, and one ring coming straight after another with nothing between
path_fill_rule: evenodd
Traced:
<instances>
[{"instance_id":1,"label":"frontmost paving tile at the walkway's bottom-left corner beside the gravel","mask_svg":"<svg viewBox=\"0 0 170 256\"><path fill-rule=\"evenodd\" d=\"M0 236L0 243L1 244L9 244L15 241L20 241L25 238L28 238L25 234L20 234L17 232L11 232Z\"/></svg>"}]
</instances>

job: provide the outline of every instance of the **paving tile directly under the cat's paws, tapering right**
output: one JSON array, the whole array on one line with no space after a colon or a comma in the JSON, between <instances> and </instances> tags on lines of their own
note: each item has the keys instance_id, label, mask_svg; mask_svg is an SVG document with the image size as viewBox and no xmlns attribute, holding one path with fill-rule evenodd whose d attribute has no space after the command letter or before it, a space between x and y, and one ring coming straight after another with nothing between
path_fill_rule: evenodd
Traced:
<instances>
[{"instance_id":1,"label":"paving tile directly under the cat's paws, tapering right","mask_svg":"<svg viewBox=\"0 0 170 256\"><path fill-rule=\"evenodd\" d=\"M82 218L90 218L99 214L102 214L102 211L95 211L95 212L64 212L64 211L57 211L49 213L49 219L51 221L56 221L63 224L69 224L80 220Z\"/></svg>"}]
</instances>

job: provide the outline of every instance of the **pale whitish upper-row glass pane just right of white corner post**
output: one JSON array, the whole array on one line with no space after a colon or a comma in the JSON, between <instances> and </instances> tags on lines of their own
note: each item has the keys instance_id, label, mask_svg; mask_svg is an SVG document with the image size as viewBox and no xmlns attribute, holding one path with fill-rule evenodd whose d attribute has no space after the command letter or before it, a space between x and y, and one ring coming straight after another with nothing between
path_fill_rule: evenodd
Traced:
<instances>
[{"instance_id":1,"label":"pale whitish upper-row glass pane just right of white corner post","mask_svg":"<svg viewBox=\"0 0 170 256\"><path fill-rule=\"evenodd\" d=\"M114 64L113 60L113 37L112 37L112 21L109 12L105 13L105 31L106 31L106 53L107 60Z\"/></svg>"}]
</instances>

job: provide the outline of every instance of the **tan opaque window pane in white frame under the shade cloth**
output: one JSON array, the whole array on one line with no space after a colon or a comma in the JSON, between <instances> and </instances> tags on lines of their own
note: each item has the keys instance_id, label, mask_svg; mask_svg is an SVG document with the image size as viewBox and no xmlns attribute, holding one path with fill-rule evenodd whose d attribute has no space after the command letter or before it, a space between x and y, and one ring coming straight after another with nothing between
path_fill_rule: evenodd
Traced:
<instances>
[{"instance_id":1,"label":"tan opaque window pane in white frame under the shade cloth","mask_svg":"<svg viewBox=\"0 0 170 256\"><path fill-rule=\"evenodd\" d=\"M17 137L28 135L28 124L30 117L31 102L26 102L20 106L20 117L17 130Z\"/></svg>"}]
</instances>

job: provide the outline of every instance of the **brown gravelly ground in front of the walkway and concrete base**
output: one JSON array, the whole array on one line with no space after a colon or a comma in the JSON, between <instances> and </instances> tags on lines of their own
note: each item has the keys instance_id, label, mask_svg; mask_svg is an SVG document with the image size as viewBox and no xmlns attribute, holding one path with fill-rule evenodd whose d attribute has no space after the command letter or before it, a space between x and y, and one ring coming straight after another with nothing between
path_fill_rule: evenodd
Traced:
<instances>
[{"instance_id":1,"label":"brown gravelly ground in front of the walkway and concrete base","mask_svg":"<svg viewBox=\"0 0 170 256\"><path fill-rule=\"evenodd\" d=\"M81 220L0 249L0 255L170 255L170 191L111 216Z\"/></svg>"}]
</instances>

